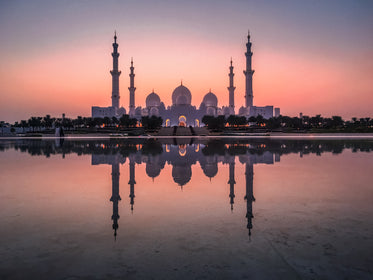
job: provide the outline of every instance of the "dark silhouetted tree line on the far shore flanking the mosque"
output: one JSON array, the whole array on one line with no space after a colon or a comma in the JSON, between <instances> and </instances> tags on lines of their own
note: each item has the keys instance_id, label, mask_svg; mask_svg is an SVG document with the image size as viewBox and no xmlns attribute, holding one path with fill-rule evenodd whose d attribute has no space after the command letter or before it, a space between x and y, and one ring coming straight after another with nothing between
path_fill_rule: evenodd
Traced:
<instances>
[{"instance_id":1,"label":"dark silhouetted tree line on the far shore flanking the mosque","mask_svg":"<svg viewBox=\"0 0 373 280\"><path fill-rule=\"evenodd\" d=\"M246 118L244 116L204 116L202 122L213 132L234 133L234 132L341 132L341 133L365 133L373 132L372 118L352 118L343 120L340 116L324 118L321 115L313 117L302 116L288 117L279 116L264 119L261 115ZM148 132L157 131L162 126L161 117L142 117L141 120L123 115L119 119L90 118L78 116L76 119L66 117L54 118L50 115L45 117L30 117L28 120L21 120L14 124L0 122L0 128L13 127L17 133L54 133L56 127L62 127L68 133L94 133L94 132L124 132L128 135L139 135L143 130ZM10 131L10 129L8 129Z\"/></svg>"}]
</instances>

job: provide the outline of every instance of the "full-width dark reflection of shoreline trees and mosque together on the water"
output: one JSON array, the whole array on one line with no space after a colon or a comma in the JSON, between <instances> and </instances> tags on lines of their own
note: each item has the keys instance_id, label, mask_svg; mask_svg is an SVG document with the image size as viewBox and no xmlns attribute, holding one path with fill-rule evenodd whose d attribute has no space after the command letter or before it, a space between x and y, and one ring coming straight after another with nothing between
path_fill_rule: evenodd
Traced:
<instances>
[{"instance_id":1,"label":"full-width dark reflection of shoreline trees and mosque together on the water","mask_svg":"<svg viewBox=\"0 0 373 280\"><path fill-rule=\"evenodd\" d=\"M298 153L300 157L304 154L315 153L321 155L323 152L341 153L344 149L352 151L372 151L372 141L330 141L330 140L271 140L258 139L106 139L106 140L16 140L1 141L0 151L14 148L31 155L62 154L68 153L78 155L91 154L92 165L111 165L112 195L110 201L113 203L113 230L114 237L117 236L119 228L118 205L121 201L119 195L120 164L129 161L130 185L129 203L131 211L135 204L136 165L145 164L146 174L154 180L160 175L165 165L172 166L172 178L181 188L187 185L192 178L192 165L199 164L203 173L213 178L218 173L218 165L229 165L229 203L233 210L235 202L235 164L236 157L240 164L245 165L245 197L246 219L248 234L251 235L253 228L253 202L254 198L254 165L274 164L279 162L282 155Z\"/></svg>"}]
</instances>

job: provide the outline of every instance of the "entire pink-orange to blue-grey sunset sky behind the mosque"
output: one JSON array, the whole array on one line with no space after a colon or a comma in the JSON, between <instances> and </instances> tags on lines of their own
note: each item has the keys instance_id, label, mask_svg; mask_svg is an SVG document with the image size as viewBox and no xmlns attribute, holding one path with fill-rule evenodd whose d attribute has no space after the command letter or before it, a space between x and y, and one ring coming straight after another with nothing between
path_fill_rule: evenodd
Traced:
<instances>
[{"instance_id":1,"label":"entire pink-orange to blue-grey sunset sky behind the mosque","mask_svg":"<svg viewBox=\"0 0 373 280\"><path fill-rule=\"evenodd\" d=\"M154 91L166 106L180 85L199 107L211 91L244 105L247 32L253 43L254 105L281 114L373 117L370 0L0 0L0 120L90 116L111 105L112 42L119 44L120 105Z\"/></svg>"}]
</instances>

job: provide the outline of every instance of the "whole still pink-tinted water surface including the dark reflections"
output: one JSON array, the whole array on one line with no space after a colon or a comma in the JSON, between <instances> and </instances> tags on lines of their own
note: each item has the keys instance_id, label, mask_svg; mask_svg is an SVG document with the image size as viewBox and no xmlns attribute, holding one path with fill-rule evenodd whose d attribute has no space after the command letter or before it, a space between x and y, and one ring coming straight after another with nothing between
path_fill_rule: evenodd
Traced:
<instances>
[{"instance_id":1,"label":"whole still pink-tinted water surface including the dark reflections","mask_svg":"<svg viewBox=\"0 0 373 280\"><path fill-rule=\"evenodd\" d=\"M372 151L0 140L0 279L372 279Z\"/></svg>"}]
</instances>

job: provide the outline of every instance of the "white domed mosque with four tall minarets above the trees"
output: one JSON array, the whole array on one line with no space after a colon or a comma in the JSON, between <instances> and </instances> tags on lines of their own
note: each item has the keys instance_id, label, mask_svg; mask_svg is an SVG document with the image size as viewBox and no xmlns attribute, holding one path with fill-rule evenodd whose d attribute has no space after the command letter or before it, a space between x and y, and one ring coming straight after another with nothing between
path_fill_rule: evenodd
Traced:
<instances>
[{"instance_id":1,"label":"white domed mosque with four tall minarets above the trees","mask_svg":"<svg viewBox=\"0 0 373 280\"><path fill-rule=\"evenodd\" d=\"M245 116L249 118L251 116L261 115L265 119L272 118L273 116L280 115L279 108L273 108L273 106L254 106L253 105L253 74L252 69L252 51L251 51L250 33L247 36L246 44L246 70L243 71L245 75L245 106L242 106L238 110L239 116ZM118 70L118 43L117 35L114 35L113 43L113 70L110 71L112 76L112 106L110 107L92 107L92 117L121 117L126 114L126 109L119 107L119 76L121 71ZM163 126L193 126L199 127L202 125L202 118L205 115L209 116L220 116L224 115L228 117L230 115L235 115L235 98L234 91L236 87L234 86L234 72L233 72L233 62L230 61L229 67L229 105L228 106L218 106L218 98L211 90L203 97L203 100L197 108L192 105L192 93L190 90L181 84L176 87L172 93L172 105L165 106L165 104L159 98L159 95L154 91L151 92L146 97L145 107L135 106L135 73L134 73L133 60L131 59L130 67L130 86L129 90L129 111L128 114L131 118L141 119L143 116L157 116L163 119Z\"/></svg>"}]
</instances>

